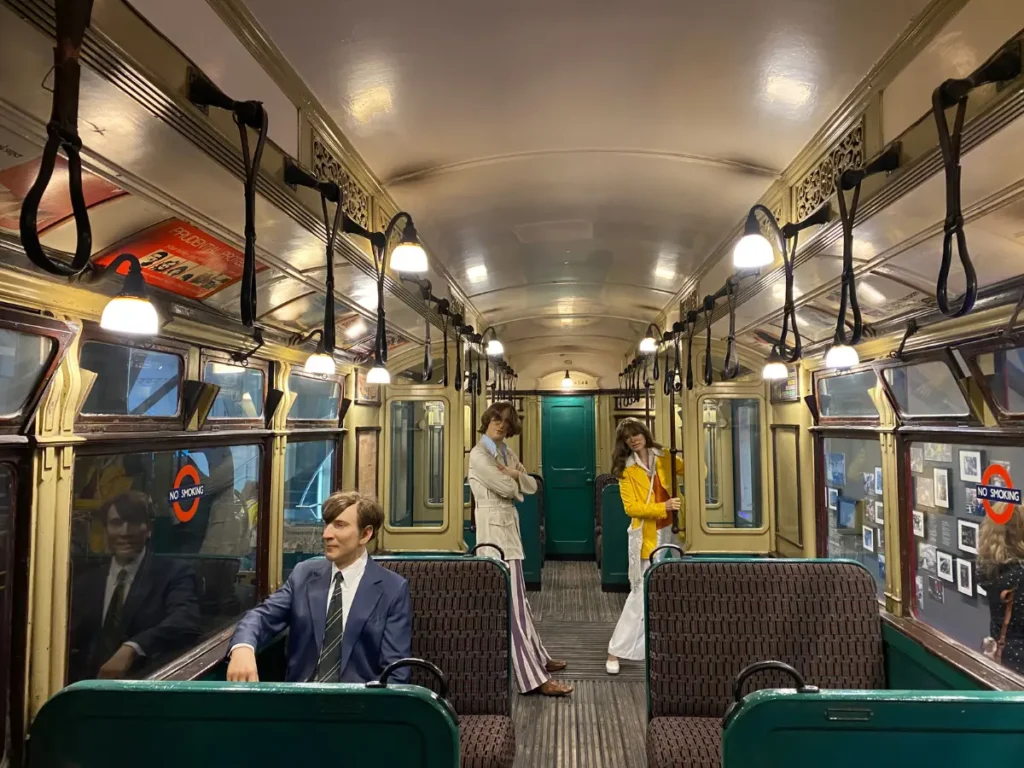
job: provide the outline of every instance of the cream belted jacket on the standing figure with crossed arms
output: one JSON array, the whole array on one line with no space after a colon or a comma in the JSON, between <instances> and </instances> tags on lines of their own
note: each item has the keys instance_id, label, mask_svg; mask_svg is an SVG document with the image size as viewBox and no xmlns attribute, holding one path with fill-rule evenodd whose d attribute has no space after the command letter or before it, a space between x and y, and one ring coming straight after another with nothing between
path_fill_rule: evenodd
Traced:
<instances>
[{"instance_id":1,"label":"cream belted jacket on the standing figure with crossed arms","mask_svg":"<svg viewBox=\"0 0 1024 768\"><path fill-rule=\"evenodd\" d=\"M537 480L526 473L510 447L505 446L509 469L522 473L518 481L503 475L498 470L498 457L482 443L469 452L469 487L476 501L476 543L497 544L505 553L506 560L522 560L522 537L519 534L519 513L516 502L522 501L523 494L537 493ZM494 549L482 548L478 552L483 557L498 559Z\"/></svg>"}]
</instances>

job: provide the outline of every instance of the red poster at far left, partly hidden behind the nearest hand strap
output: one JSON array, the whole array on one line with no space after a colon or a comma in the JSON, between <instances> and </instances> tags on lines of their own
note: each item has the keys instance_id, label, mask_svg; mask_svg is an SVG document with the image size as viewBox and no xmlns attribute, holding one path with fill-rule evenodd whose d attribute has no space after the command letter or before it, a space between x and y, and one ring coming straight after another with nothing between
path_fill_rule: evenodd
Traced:
<instances>
[{"instance_id":1,"label":"red poster at far left, partly hidden behind the nearest hand strap","mask_svg":"<svg viewBox=\"0 0 1024 768\"><path fill-rule=\"evenodd\" d=\"M17 233L22 216L22 201L39 175L40 158L0 170L0 229ZM126 195L124 189L88 171L82 171L82 194L86 206L94 206ZM53 176L39 202L36 229L39 232L71 216L71 196L68 193L68 161L57 156Z\"/></svg>"}]
</instances>

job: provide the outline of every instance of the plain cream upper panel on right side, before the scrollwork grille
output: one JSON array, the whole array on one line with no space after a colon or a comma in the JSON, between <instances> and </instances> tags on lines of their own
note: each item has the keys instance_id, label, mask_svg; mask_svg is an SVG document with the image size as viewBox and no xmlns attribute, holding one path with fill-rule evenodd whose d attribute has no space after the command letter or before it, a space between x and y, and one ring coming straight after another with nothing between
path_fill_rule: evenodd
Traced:
<instances>
[{"instance_id":1,"label":"plain cream upper panel on right side, before the scrollwork grille","mask_svg":"<svg viewBox=\"0 0 1024 768\"><path fill-rule=\"evenodd\" d=\"M970 75L1024 29L1020 0L971 0L882 93L882 133L889 143L932 109L932 91Z\"/></svg>"}]
</instances>

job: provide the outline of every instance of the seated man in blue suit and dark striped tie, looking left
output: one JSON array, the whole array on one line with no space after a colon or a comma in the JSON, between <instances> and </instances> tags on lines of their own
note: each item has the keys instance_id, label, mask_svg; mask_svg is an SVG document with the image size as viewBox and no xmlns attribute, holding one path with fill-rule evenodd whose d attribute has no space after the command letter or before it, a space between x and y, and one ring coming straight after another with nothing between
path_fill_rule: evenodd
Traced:
<instances>
[{"instance_id":1,"label":"seated man in blue suit and dark striped tie, looking left","mask_svg":"<svg viewBox=\"0 0 1024 768\"><path fill-rule=\"evenodd\" d=\"M288 682L365 683L412 654L409 585L367 554L384 523L380 505L337 493L324 503L324 523L325 559L300 562L285 586L239 622L228 644L228 680L258 680L256 649L285 629ZM408 668L391 676L396 683L408 679Z\"/></svg>"}]
</instances>

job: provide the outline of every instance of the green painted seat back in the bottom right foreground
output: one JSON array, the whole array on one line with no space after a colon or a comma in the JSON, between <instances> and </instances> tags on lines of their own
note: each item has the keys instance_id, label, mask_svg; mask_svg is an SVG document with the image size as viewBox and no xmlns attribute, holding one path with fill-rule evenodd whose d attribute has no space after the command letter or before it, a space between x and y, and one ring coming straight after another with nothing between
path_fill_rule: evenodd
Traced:
<instances>
[{"instance_id":1,"label":"green painted seat back in the bottom right foreground","mask_svg":"<svg viewBox=\"0 0 1024 768\"><path fill-rule=\"evenodd\" d=\"M1024 693L762 690L722 739L724 768L1024 763Z\"/></svg>"}]
</instances>

